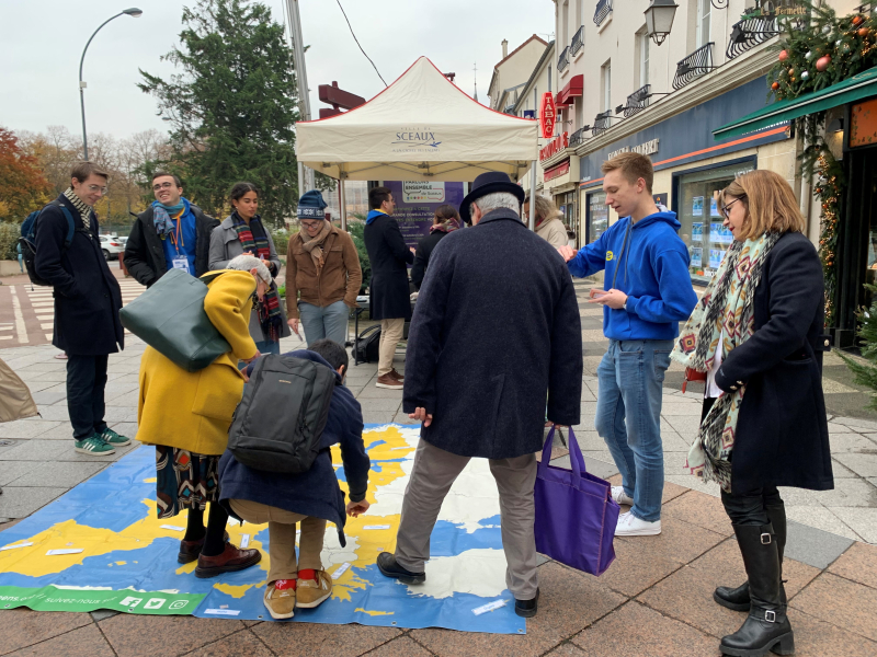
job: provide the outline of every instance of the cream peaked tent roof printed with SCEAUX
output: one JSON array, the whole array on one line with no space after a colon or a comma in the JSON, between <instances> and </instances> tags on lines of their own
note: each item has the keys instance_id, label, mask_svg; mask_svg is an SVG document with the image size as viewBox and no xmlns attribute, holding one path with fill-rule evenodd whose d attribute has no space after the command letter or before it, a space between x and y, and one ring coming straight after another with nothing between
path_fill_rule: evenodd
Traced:
<instances>
[{"instance_id":1,"label":"cream peaked tent roof printed with SCEAUX","mask_svg":"<svg viewBox=\"0 0 877 657\"><path fill-rule=\"evenodd\" d=\"M536 122L474 101L425 57L374 99L296 124L299 161L357 181L463 181L486 171L517 180L537 157Z\"/></svg>"}]
</instances>

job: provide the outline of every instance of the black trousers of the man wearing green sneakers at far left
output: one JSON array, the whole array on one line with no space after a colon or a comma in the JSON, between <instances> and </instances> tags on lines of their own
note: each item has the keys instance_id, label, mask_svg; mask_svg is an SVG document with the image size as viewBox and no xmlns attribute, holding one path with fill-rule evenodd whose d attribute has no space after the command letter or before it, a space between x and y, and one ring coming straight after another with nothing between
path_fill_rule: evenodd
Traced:
<instances>
[{"instance_id":1,"label":"black trousers of the man wearing green sneakers at far left","mask_svg":"<svg viewBox=\"0 0 877 657\"><path fill-rule=\"evenodd\" d=\"M94 431L103 434L106 423L104 389L110 356L67 355L67 411L73 439L83 440Z\"/></svg>"}]
</instances>

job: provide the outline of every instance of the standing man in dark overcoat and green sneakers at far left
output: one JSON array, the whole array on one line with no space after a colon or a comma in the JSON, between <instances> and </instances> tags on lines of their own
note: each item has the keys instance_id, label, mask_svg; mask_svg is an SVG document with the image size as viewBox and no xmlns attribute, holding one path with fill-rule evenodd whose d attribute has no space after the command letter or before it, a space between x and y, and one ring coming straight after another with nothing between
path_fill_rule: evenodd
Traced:
<instances>
[{"instance_id":1,"label":"standing man in dark overcoat and green sneakers at far left","mask_svg":"<svg viewBox=\"0 0 877 657\"><path fill-rule=\"evenodd\" d=\"M58 196L76 223L69 247L68 221L55 204L36 221L36 274L54 287L55 335L52 344L67 355L67 410L78 452L105 457L130 440L106 426L104 391L110 354L125 348L118 319L122 289L101 251L94 215L106 191L107 174L91 162L70 172L70 186Z\"/></svg>"}]
</instances>

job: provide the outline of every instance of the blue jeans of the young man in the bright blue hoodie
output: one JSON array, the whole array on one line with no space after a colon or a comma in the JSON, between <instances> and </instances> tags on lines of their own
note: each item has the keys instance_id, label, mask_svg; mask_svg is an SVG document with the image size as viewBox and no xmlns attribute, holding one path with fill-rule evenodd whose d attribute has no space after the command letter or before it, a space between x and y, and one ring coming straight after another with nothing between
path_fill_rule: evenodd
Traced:
<instances>
[{"instance_id":1,"label":"blue jeans of the young man in the bright blue hoodie","mask_svg":"<svg viewBox=\"0 0 877 657\"><path fill-rule=\"evenodd\" d=\"M596 431L634 498L630 511L648 522L661 519L661 384L672 349L672 339L611 339L596 369Z\"/></svg>"}]
</instances>

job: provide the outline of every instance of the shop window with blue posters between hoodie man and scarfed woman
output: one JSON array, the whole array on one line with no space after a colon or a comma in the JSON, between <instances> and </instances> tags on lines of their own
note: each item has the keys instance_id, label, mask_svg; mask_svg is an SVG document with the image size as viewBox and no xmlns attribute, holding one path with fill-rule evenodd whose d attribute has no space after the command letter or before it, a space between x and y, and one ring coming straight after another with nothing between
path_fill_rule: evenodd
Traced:
<instances>
[{"instance_id":1,"label":"shop window with blue posters between hoodie man and scarfed woman","mask_svg":"<svg viewBox=\"0 0 877 657\"><path fill-rule=\"evenodd\" d=\"M738 175L753 169L754 162L742 162L677 176L675 204L682 223L679 234L688 247L692 280L709 283L733 241L731 231L722 226L719 193Z\"/></svg>"}]
</instances>

